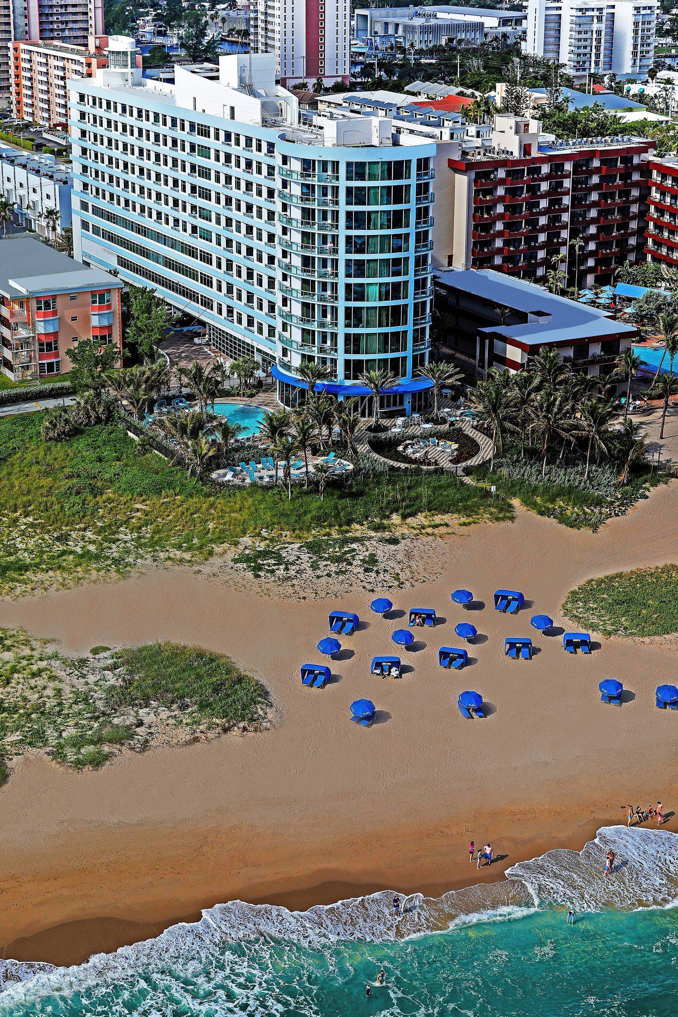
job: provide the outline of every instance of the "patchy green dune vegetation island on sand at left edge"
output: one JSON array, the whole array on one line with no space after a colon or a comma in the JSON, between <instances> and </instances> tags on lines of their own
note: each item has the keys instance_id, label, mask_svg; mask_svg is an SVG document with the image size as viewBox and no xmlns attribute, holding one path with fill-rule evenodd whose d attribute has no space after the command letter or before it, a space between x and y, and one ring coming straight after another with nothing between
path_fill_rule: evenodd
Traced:
<instances>
[{"instance_id":1,"label":"patchy green dune vegetation island on sand at left edge","mask_svg":"<svg viewBox=\"0 0 678 1017\"><path fill-rule=\"evenodd\" d=\"M263 685L220 654L172 643L95 649L65 657L22 630L0 630L0 783L7 760L26 752L98 767L124 746L251 728L266 715Z\"/></svg>"}]
</instances>

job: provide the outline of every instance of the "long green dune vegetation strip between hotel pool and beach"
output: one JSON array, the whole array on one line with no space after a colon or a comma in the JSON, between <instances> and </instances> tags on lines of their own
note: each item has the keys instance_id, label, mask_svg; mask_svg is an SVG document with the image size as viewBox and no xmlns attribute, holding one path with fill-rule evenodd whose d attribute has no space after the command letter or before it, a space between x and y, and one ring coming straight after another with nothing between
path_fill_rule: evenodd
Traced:
<instances>
[{"instance_id":1,"label":"long green dune vegetation strip between hotel pool and beach","mask_svg":"<svg viewBox=\"0 0 678 1017\"><path fill-rule=\"evenodd\" d=\"M40 437L44 415L0 420L0 593L124 573L153 559L204 560L242 537L306 540L387 533L405 521L512 518L509 502L424 473L313 490L213 491L138 445L118 425L66 442Z\"/></svg>"}]
</instances>

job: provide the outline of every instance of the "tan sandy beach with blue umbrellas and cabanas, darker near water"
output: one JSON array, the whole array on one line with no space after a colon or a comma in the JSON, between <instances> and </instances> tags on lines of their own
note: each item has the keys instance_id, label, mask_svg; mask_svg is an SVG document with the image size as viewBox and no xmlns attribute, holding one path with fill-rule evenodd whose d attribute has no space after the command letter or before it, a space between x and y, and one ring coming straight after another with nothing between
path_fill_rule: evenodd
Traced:
<instances>
[{"instance_id":1,"label":"tan sandy beach with blue umbrellas and cabanas, darker near water","mask_svg":"<svg viewBox=\"0 0 678 1017\"><path fill-rule=\"evenodd\" d=\"M126 755L96 772L20 761L0 790L2 955L76 962L234 898L303 908L383 888L436 895L500 879L550 847L580 847L625 821L629 801L661 797L673 811L678 728L654 689L675 680L678 641L594 637L591 658L570 658L529 618L534 607L563 625L559 605L582 580L676 560L676 499L675 484L660 487L599 534L519 511L512 524L441 538L439 578L392 596L442 621L416 631L399 681L369 674L403 624L370 616L372 589L299 600L168 569L1 603L0 624L73 652L171 639L228 653L266 683L279 715L271 731ZM483 609L453 605L457 586ZM497 587L525 592L517 618L493 610ZM317 657L330 606L365 624L345 640L332 683L309 692L299 666ZM437 666L437 649L455 645L463 619L481 635L456 674ZM504 658L509 635L533 636L532 662ZM603 706L603 677L634 698ZM470 687L490 704L484 722L456 710ZM349 722L359 696L379 711L369 730ZM477 873L472 837L490 839L501 860Z\"/></svg>"}]
</instances>

